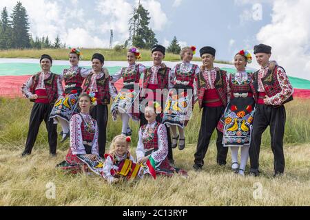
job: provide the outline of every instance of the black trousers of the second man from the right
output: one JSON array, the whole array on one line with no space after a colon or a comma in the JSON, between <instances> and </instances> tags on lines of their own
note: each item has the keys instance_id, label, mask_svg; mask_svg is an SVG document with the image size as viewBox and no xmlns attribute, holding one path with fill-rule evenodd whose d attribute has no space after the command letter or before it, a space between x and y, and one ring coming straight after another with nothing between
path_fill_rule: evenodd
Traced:
<instances>
[{"instance_id":1,"label":"black trousers of the second man from the right","mask_svg":"<svg viewBox=\"0 0 310 220\"><path fill-rule=\"evenodd\" d=\"M197 150L194 155L195 164L203 166L203 159L205 158L205 154L207 153L211 135L216 129L220 118L223 116L225 111L225 107L204 107L203 108L203 118L201 119L200 132L198 137ZM218 150L216 162L219 165L226 164L226 158L228 153L228 148L223 147L223 133L218 131L218 137L216 139L216 147Z\"/></svg>"}]
</instances>

